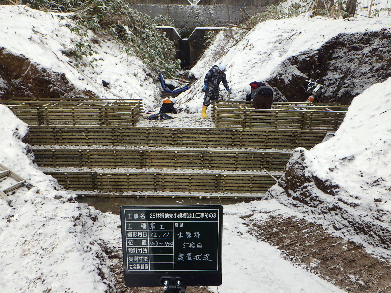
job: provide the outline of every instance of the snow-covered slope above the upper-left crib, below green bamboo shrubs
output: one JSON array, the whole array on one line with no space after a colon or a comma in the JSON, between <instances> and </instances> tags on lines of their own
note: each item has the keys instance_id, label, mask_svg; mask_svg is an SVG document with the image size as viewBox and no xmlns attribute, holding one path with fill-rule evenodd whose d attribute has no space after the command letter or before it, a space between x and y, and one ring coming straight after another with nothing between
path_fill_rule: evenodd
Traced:
<instances>
[{"instance_id":1,"label":"snow-covered slope above the upper-left crib, below green bamboo shrubs","mask_svg":"<svg viewBox=\"0 0 391 293\"><path fill-rule=\"evenodd\" d=\"M77 89L92 91L96 96L143 99L146 108L155 105L160 84L153 83L151 72L140 59L123 53L113 41L90 32L90 39L95 40L91 44L98 54L84 61L88 64L95 57L98 61L93 64L97 67L75 68L72 59L63 54L74 46L71 40L77 40L69 29L70 22L66 14L45 13L24 5L0 5L0 49L27 57L40 68L65 73ZM109 82L109 89L102 86L102 80Z\"/></svg>"}]
</instances>

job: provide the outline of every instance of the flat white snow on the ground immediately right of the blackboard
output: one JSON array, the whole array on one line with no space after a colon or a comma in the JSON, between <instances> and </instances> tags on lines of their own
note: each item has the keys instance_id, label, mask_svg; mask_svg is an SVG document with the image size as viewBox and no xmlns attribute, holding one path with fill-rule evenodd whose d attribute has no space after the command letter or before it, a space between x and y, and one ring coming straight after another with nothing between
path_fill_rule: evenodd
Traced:
<instances>
[{"instance_id":1,"label":"flat white snow on the ground immediately right of the blackboard","mask_svg":"<svg viewBox=\"0 0 391 293\"><path fill-rule=\"evenodd\" d=\"M277 248L256 241L241 225L244 220L239 216L254 213L252 218L260 220L262 214L254 211L270 213L277 209L292 214L274 200L224 206L222 286L212 287L213 292L344 292L282 259ZM299 213L295 215L300 217Z\"/></svg>"}]
</instances>

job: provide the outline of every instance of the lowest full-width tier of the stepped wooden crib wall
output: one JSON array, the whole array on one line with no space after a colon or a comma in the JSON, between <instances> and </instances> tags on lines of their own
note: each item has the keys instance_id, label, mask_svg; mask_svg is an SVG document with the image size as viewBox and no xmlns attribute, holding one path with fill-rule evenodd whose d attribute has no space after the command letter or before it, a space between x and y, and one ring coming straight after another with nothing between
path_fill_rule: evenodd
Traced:
<instances>
[{"instance_id":1,"label":"lowest full-width tier of the stepped wooden crib wall","mask_svg":"<svg viewBox=\"0 0 391 293\"><path fill-rule=\"evenodd\" d=\"M264 193L275 181L267 174L45 172L66 189ZM280 174L274 174L279 177Z\"/></svg>"}]
</instances>

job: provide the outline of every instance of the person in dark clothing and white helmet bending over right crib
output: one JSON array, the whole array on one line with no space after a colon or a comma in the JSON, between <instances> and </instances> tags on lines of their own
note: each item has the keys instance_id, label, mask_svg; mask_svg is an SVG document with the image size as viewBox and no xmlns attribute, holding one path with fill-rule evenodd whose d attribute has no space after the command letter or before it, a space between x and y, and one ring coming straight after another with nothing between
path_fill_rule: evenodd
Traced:
<instances>
[{"instance_id":1,"label":"person in dark clothing and white helmet bending over right crib","mask_svg":"<svg viewBox=\"0 0 391 293\"><path fill-rule=\"evenodd\" d=\"M255 109L271 109L273 104L273 90L267 84L260 81L253 81L244 87L246 91L246 102L250 104L253 100Z\"/></svg>"}]
</instances>

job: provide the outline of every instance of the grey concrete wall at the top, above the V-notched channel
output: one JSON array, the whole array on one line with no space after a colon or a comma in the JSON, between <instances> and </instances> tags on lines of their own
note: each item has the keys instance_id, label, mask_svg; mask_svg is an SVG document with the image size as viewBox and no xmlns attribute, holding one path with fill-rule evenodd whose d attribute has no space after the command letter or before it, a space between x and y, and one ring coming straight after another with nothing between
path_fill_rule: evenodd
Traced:
<instances>
[{"instance_id":1,"label":"grey concrete wall at the top, above the V-notched channel","mask_svg":"<svg viewBox=\"0 0 391 293\"><path fill-rule=\"evenodd\" d=\"M148 14L151 17L168 15L174 25L181 32L182 38L188 38L196 27L224 27L227 25L226 5L131 5L137 11ZM230 6L231 22L242 21L242 7ZM253 14L263 11L264 7L248 7L246 11Z\"/></svg>"}]
</instances>

